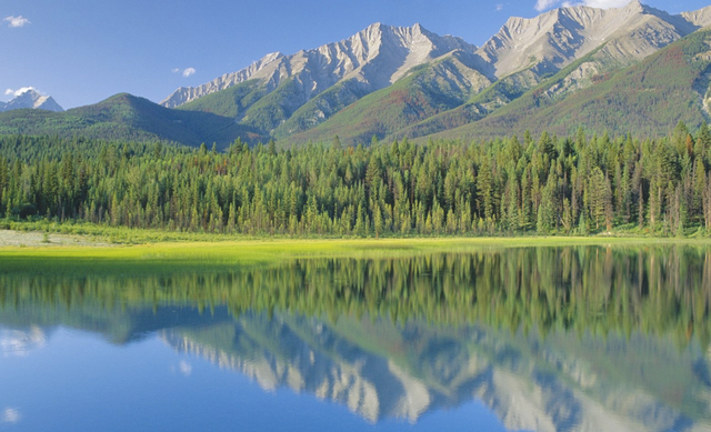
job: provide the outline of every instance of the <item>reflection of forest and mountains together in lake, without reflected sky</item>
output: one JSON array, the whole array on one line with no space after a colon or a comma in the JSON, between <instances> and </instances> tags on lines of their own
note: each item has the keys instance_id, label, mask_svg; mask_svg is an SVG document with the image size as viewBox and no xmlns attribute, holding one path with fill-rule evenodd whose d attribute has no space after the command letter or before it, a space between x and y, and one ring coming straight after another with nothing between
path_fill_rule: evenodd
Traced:
<instances>
[{"instance_id":1,"label":"reflection of forest and mountains together in lake, without reflected sky","mask_svg":"<svg viewBox=\"0 0 711 432\"><path fill-rule=\"evenodd\" d=\"M4 274L0 324L26 330L0 343L22 351L57 325L117 344L158 334L266 391L334 401L375 424L479 400L510 430L702 431L710 275L711 254L691 247Z\"/></svg>"}]
</instances>

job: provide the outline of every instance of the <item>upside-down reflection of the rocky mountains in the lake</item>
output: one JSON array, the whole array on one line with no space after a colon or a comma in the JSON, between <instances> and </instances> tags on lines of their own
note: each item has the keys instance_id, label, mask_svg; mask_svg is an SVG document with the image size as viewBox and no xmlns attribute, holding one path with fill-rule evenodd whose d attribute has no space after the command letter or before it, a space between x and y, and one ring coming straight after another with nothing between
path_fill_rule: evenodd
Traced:
<instances>
[{"instance_id":1,"label":"upside-down reflection of the rocky mountains in the lake","mask_svg":"<svg viewBox=\"0 0 711 432\"><path fill-rule=\"evenodd\" d=\"M557 331L541 339L471 325L432 329L353 317L327 324L262 314L170 329L161 338L267 391L316 394L371 422L415 422L478 399L510 430L677 431L708 419L711 402L709 355L639 334Z\"/></svg>"}]
</instances>

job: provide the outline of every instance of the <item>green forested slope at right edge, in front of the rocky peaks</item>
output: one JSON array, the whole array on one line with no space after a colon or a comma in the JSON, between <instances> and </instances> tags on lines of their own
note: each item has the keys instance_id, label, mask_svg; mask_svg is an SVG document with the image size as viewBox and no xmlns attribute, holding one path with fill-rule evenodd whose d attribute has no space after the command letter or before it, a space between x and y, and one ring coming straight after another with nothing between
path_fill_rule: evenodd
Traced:
<instances>
[{"instance_id":1,"label":"green forested slope at right edge, in front of the rocky peaks","mask_svg":"<svg viewBox=\"0 0 711 432\"><path fill-rule=\"evenodd\" d=\"M491 138L501 130L565 135L579 127L654 135L679 121L698 127L711 113L711 30L695 32L638 64L598 76L594 86L559 93L571 70L594 61L594 56L583 58L498 112L433 137Z\"/></svg>"}]
</instances>

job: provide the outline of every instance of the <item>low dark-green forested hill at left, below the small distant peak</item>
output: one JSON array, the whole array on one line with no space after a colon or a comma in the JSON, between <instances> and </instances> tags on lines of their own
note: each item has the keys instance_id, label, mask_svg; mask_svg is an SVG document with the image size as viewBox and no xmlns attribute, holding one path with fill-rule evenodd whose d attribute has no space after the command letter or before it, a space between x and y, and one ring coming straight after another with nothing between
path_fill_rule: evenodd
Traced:
<instances>
[{"instance_id":1,"label":"low dark-green forested hill at left, below the small distant peak","mask_svg":"<svg viewBox=\"0 0 711 432\"><path fill-rule=\"evenodd\" d=\"M237 124L233 119L207 112L170 110L128 93L64 112L3 112L0 113L0 133L162 140L193 147L204 142L217 143L219 148L226 148L238 138L248 142L261 139L258 132Z\"/></svg>"}]
</instances>

